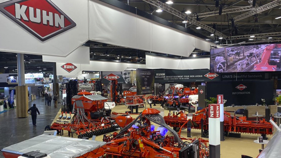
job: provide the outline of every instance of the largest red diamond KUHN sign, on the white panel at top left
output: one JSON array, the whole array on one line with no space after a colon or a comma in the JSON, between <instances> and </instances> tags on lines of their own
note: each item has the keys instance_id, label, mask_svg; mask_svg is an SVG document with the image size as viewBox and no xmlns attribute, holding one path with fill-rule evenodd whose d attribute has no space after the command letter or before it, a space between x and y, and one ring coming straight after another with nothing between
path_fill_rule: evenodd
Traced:
<instances>
[{"instance_id":1,"label":"largest red diamond KUHN sign, on the white panel at top left","mask_svg":"<svg viewBox=\"0 0 281 158\"><path fill-rule=\"evenodd\" d=\"M76 26L50 0L11 0L0 3L0 11L41 41Z\"/></svg>"}]
</instances>

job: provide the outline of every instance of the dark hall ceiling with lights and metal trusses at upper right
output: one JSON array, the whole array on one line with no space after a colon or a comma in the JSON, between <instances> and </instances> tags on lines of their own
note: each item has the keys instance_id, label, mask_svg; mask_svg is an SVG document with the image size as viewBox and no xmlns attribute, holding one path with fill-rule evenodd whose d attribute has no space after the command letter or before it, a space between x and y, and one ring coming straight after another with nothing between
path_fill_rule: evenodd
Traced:
<instances>
[{"instance_id":1,"label":"dark hall ceiling with lights and metal trusses at upper right","mask_svg":"<svg viewBox=\"0 0 281 158\"><path fill-rule=\"evenodd\" d=\"M281 32L281 10L279 1L269 0L225 0L217 1L218 7L216 7L215 0L118 0L125 4L129 4L132 7L136 7L149 14L155 15L172 23L181 25L192 29L193 31L213 38L218 41L217 44L225 43L225 39L218 39L219 36L211 36L210 31L205 29L199 29L198 26L190 23L183 23L184 19L175 16L171 11L159 10L161 7L152 5L153 2L159 1L173 7L179 13L187 14L189 17L193 17L201 23L208 25L211 28L215 28L226 35L227 37L237 35L251 35L259 33L277 33ZM171 1L173 3L166 3ZM255 2L255 7L253 7ZM222 15L218 15L218 11L222 10ZM261 6L263 6L261 8ZM214 12L216 11L216 12ZM226 14L227 13L227 14ZM256 14L257 13L257 14ZM198 15L198 18L196 18ZM242 16L241 16L242 15ZM278 18L279 17L279 18ZM231 19L234 19L234 25L232 25ZM239 42L253 42L255 41L273 41L280 40L280 36L273 36L268 39L270 35L263 36L262 38L249 37L249 38L232 38L232 43ZM252 40L253 39L253 40ZM229 44L229 43L228 43Z\"/></svg>"}]
</instances>

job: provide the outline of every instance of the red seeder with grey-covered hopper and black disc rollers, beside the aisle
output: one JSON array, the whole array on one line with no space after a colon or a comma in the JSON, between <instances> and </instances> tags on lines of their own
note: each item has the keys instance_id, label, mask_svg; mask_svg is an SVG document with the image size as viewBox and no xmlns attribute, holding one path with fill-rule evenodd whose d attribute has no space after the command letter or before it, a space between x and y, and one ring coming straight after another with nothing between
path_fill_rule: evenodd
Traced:
<instances>
[{"instance_id":1,"label":"red seeder with grey-covered hopper and black disc rollers, beside the aisle","mask_svg":"<svg viewBox=\"0 0 281 158\"><path fill-rule=\"evenodd\" d=\"M78 138L92 137L105 133L117 131L119 125L114 121L117 116L120 119L130 119L131 116L125 113L114 113L111 117L111 109L115 106L114 102L107 102L101 95L92 95L89 92L79 92L72 97L71 104L74 107L74 114L67 114L62 111L61 116L51 126L46 126L46 130L57 130L63 132L67 130L69 136L73 133Z\"/></svg>"}]
</instances>

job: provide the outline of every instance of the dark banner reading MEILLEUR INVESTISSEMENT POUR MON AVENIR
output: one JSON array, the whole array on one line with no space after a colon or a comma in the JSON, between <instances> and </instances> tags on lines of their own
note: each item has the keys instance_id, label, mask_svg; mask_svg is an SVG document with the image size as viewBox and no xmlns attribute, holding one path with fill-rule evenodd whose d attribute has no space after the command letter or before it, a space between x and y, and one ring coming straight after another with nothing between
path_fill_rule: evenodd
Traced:
<instances>
[{"instance_id":1,"label":"dark banner reading MEILLEUR INVESTISSEMENT POUR MON AVENIR","mask_svg":"<svg viewBox=\"0 0 281 158\"><path fill-rule=\"evenodd\" d=\"M155 83L220 81L217 73L201 70L155 70Z\"/></svg>"}]
</instances>

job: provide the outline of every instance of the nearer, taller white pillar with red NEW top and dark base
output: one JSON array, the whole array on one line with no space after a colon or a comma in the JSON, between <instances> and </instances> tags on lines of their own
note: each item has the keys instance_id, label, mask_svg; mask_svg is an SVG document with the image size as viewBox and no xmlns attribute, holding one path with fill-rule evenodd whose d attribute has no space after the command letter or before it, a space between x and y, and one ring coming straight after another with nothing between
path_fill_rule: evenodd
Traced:
<instances>
[{"instance_id":1,"label":"nearer, taller white pillar with red NEW top and dark base","mask_svg":"<svg viewBox=\"0 0 281 158\"><path fill-rule=\"evenodd\" d=\"M220 158L220 105L209 104L210 158Z\"/></svg>"}]
</instances>

